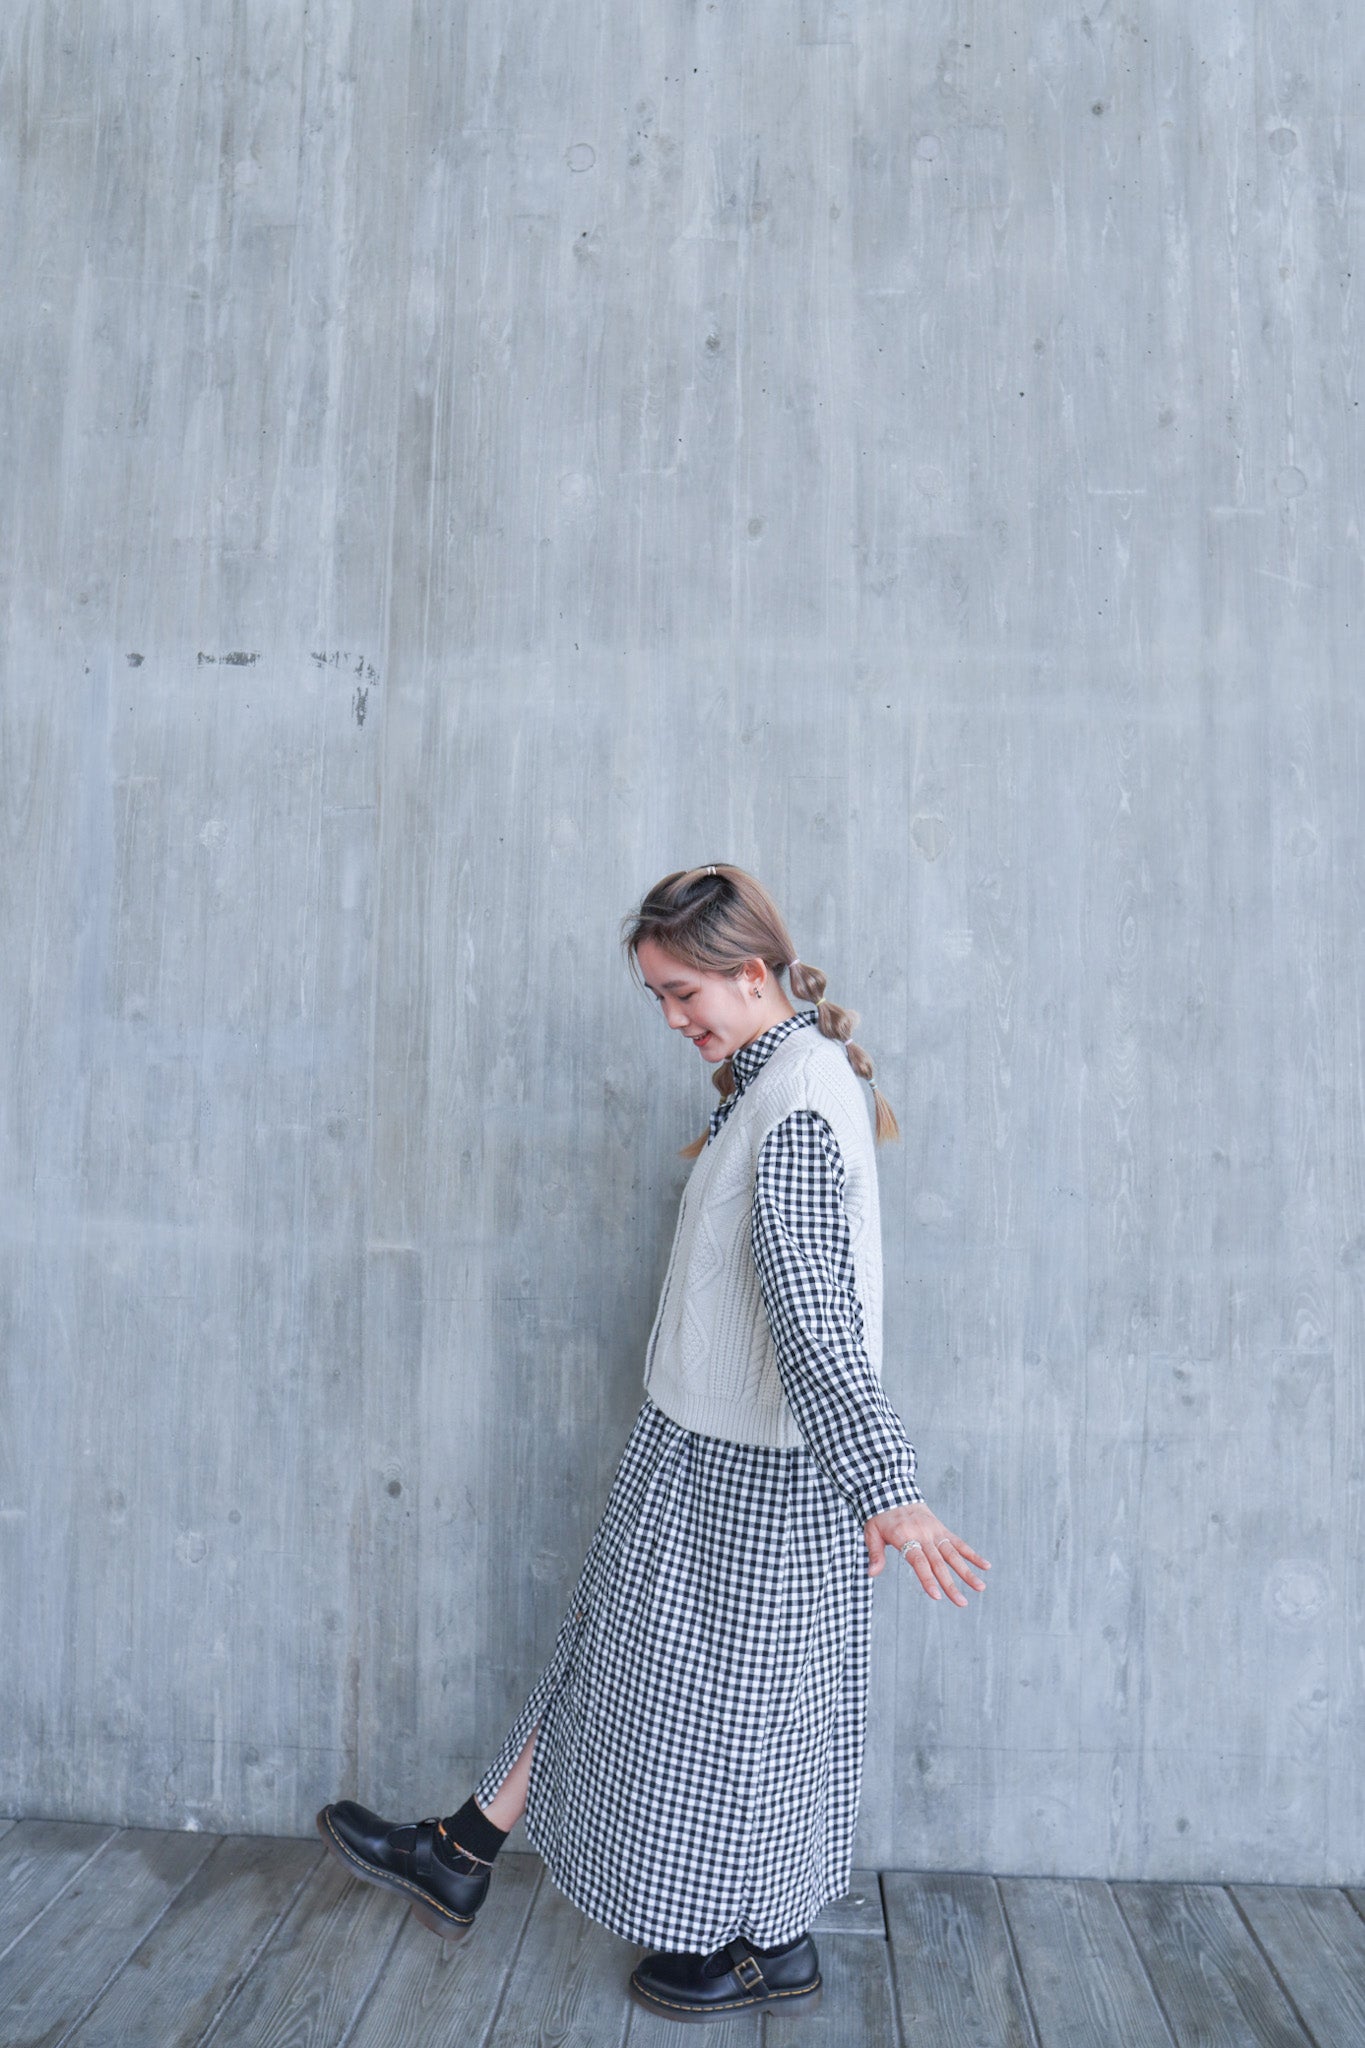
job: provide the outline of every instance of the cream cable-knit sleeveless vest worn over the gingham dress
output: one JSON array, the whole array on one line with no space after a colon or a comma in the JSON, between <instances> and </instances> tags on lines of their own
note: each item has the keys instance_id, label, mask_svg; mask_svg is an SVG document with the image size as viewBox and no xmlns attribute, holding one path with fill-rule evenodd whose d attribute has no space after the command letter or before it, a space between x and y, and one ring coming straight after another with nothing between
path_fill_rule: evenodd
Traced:
<instances>
[{"instance_id":1,"label":"cream cable-knit sleeveless vest worn over the gingham dress","mask_svg":"<svg viewBox=\"0 0 1365 2048\"><path fill-rule=\"evenodd\" d=\"M882 1214L870 1108L843 1044L819 1026L794 1030L696 1155L645 1352L645 1389L684 1430L774 1448L804 1442L782 1391L749 1243L759 1147L792 1110L819 1110L839 1139L853 1276L880 1380Z\"/></svg>"}]
</instances>

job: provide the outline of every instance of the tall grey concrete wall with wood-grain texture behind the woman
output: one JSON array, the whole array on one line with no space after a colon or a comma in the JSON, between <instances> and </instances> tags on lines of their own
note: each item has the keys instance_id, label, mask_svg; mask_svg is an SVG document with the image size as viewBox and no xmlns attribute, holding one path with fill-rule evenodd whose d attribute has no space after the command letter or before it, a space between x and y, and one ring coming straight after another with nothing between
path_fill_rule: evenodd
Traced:
<instances>
[{"instance_id":1,"label":"tall grey concrete wall with wood-grain texture behind the woman","mask_svg":"<svg viewBox=\"0 0 1365 2048\"><path fill-rule=\"evenodd\" d=\"M857 1853L1365 1878L1361 16L0 16L0 1808L446 1810L729 858L864 1016ZM522 1831L518 1831L520 1841Z\"/></svg>"}]
</instances>

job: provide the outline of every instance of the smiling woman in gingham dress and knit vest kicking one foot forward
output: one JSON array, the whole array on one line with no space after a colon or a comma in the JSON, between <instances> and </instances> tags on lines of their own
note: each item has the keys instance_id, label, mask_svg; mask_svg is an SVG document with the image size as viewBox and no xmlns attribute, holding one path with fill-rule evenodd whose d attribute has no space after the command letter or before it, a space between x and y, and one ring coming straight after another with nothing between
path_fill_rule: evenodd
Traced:
<instances>
[{"instance_id":1,"label":"smiling woman in gingham dress and knit vest kicking one foot forward","mask_svg":"<svg viewBox=\"0 0 1365 2048\"><path fill-rule=\"evenodd\" d=\"M667 874L622 942L720 1092L684 1151L645 1401L555 1653L465 1804L391 1825L340 1800L317 1827L456 1935L524 1812L551 1880L655 1950L639 2003L808 2009L810 1923L849 1886L872 1579L890 1546L962 1608L956 1579L982 1591L988 1565L923 1503L880 1384L874 1145L898 1124L876 1085L868 1122L857 1014L743 868Z\"/></svg>"}]
</instances>

